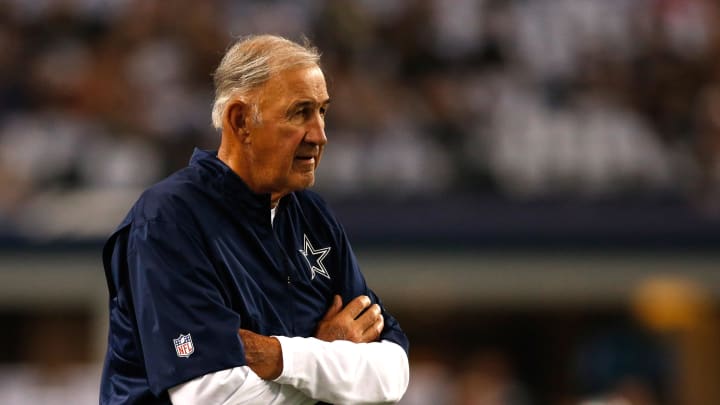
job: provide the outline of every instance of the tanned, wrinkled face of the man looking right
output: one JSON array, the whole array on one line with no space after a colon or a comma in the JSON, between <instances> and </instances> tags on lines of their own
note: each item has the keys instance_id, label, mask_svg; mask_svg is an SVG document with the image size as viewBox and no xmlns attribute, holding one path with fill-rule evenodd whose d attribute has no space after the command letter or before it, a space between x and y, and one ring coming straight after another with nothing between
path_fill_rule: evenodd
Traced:
<instances>
[{"instance_id":1,"label":"tanned, wrinkled face of the man looking right","mask_svg":"<svg viewBox=\"0 0 720 405\"><path fill-rule=\"evenodd\" d=\"M250 120L247 145L251 187L273 200L315 182L327 138L329 97L319 67L291 69L259 91L261 123Z\"/></svg>"}]
</instances>

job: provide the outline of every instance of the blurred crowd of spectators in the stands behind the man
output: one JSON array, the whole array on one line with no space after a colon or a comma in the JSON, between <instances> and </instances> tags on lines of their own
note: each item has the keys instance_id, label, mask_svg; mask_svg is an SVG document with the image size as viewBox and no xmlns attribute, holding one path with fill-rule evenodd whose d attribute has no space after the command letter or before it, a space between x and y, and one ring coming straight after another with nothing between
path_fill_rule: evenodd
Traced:
<instances>
[{"instance_id":1,"label":"blurred crowd of spectators in the stands behind the man","mask_svg":"<svg viewBox=\"0 0 720 405\"><path fill-rule=\"evenodd\" d=\"M257 32L323 53L324 193L720 200L711 0L0 0L0 228L104 234L217 146L211 74Z\"/></svg>"}]
</instances>

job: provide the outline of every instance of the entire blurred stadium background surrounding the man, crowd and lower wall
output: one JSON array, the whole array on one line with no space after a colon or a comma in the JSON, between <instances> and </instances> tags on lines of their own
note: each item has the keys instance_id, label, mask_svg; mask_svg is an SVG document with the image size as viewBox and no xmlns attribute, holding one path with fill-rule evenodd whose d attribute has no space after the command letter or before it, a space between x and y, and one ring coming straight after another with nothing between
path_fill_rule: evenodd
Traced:
<instances>
[{"instance_id":1,"label":"entire blurred stadium background surrounding the man, crowd and lower wall","mask_svg":"<svg viewBox=\"0 0 720 405\"><path fill-rule=\"evenodd\" d=\"M0 0L0 403L97 403L104 238L264 32L323 53L402 404L720 403L714 0Z\"/></svg>"}]
</instances>

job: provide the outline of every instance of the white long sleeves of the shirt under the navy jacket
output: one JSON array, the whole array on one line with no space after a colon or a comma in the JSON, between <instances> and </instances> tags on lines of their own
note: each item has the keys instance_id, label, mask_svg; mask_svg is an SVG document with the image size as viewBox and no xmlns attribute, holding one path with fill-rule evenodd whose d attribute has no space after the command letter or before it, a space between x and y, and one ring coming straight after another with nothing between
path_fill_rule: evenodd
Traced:
<instances>
[{"instance_id":1,"label":"white long sleeves of the shirt under the navy jacket","mask_svg":"<svg viewBox=\"0 0 720 405\"><path fill-rule=\"evenodd\" d=\"M283 371L275 380L235 367L170 388L170 400L175 405L381 404L399 401L407 389L408 358L393 342L276 338Z\"/></svg>"}]
</instances>

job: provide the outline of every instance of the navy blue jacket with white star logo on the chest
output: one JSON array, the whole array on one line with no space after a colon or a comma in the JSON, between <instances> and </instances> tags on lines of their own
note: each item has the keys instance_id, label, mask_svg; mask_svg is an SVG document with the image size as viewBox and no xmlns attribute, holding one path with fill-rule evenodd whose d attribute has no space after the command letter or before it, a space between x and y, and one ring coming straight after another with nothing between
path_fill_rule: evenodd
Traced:
<instances>
[{"instance_id":1,"label":"navy blue jacket with white star logo on the chest","mask_svg":"<svg viewBox=\"0 0 720 405\"><path fill-rule=\"evenodd\" d=\"M245 365L238 329L313 336L334 294L368 288L315 193L255 194L213 152L148 189L103 251L110 293L101 404L169 404L167 389ZM408 340L383 308L381 339Z\"/></svg>"}]
</instances>

